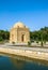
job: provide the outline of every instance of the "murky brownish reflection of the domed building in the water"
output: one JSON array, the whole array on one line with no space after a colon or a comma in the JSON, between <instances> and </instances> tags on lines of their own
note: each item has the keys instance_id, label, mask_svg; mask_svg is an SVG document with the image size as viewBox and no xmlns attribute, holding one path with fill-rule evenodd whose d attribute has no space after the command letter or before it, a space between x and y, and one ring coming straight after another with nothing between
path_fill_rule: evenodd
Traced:
<instances>
[{"instance_id":1,"label":"murky brownish reflection of the domed building in the water","mask_svg":"<svg viewBox=\"0 0 48 70\"><path fill-rule=\"evenodd\" d=\"M10 58L10 59L11 59L11 62L13 64L13 66L15 68L17 68L17 70L22 70L25 61L18 60L18 59L15 59L15 58Z\"/></svg>"}]
</instances>

